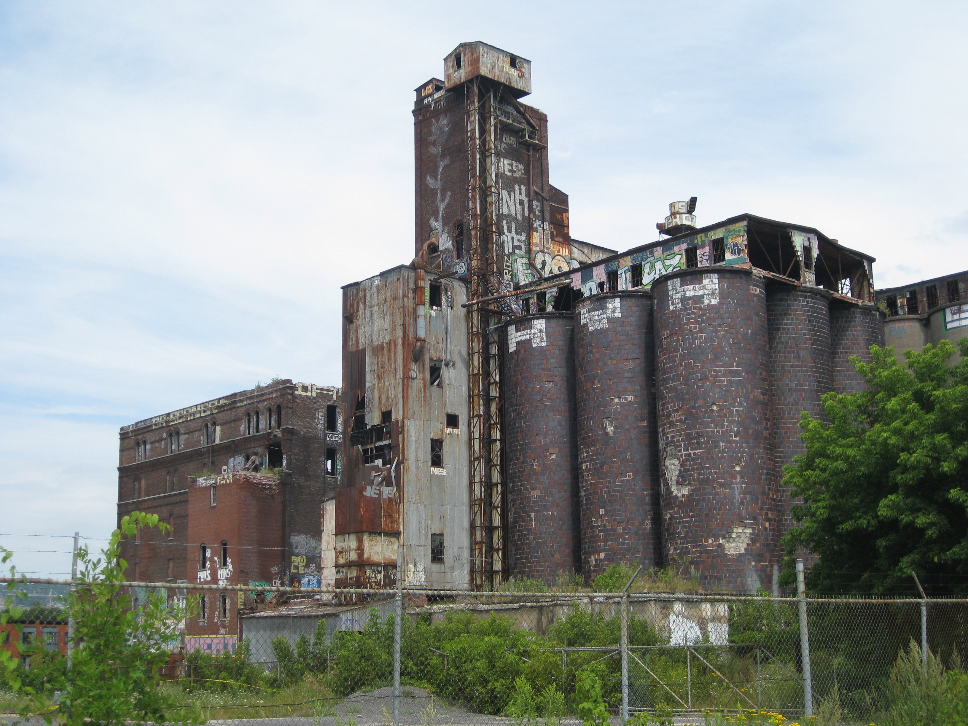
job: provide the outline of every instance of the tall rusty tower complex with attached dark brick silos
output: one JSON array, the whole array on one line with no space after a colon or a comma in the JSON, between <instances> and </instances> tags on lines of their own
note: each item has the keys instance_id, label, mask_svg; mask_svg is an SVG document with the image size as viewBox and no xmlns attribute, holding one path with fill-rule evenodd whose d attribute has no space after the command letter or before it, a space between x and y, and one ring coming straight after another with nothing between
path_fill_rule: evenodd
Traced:
<instances>
[{"instance_id":1,"label":"tall rusty tower complex with attached dark brick silos","mask_svg":"<svg viewBox=\"0 0 968 726\"><path fill-rule=\"evenodd\" d=\"M586 582L617 562L770 587L803 410L882 345L873 257L742 214L572 239L530 62L458 45L416 89L415 257L344 287L338 586Z\"/></svg>"}]
</instances>

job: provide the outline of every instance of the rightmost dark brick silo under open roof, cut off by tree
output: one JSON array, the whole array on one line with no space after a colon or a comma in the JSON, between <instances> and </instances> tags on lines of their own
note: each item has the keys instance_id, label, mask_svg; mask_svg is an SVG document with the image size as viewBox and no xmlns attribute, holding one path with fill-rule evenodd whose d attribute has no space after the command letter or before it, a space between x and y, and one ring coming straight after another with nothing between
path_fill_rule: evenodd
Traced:
<instances>
[{"instance_id":1,"label":"rightmost dark brick silo under open roof, cut off by tree","mask_svg":"<svg viewBox=\"0 0 968 726\"><path fill-rule=\"evenodd\" d=\"M855 393L865 387L861 374L854 370L850 356L859 355L869 363L871 346L884 346L884 318L870 303L831 302L831 348L833 390Z\"/></svg>"}]
</instances>

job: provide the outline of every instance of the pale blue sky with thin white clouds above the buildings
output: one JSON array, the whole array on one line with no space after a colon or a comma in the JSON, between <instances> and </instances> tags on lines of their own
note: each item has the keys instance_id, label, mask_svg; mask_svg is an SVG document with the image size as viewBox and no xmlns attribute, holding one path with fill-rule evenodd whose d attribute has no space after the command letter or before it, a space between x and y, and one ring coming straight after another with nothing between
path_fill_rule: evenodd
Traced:
<instances>
[{"instance_id":1,"label":"pale blue sky with thin white clouds above the buildings","mask_svg":"<svg viewBox=\"0 0 968 726\"><path fill-rule=\"evenodd\" d=\"M892 287L968 268L966 31L930 1L5 0L0 545L43 577L103 545L125 424L339 384L340 287L412 257L413 89L459 43L532 62L575 237L653 241L695 196Z\"/></svg>"}]
</instances>

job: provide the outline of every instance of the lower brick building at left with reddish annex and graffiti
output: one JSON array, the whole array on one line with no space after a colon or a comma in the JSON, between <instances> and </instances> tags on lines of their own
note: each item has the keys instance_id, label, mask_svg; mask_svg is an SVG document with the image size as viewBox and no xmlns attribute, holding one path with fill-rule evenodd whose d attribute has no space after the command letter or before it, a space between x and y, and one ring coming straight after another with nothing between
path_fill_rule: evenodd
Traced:
<instances>
[{"instance_id":1,"label":"lower brick building at left with reddish annex and graffiti","mask_svg":"<svg viewBox=\"0 0 968 726\"><path fill-rule=\"evenodd\" d=\"M125 426L118 519L157 514L170 528L122 543L129 577L319 587L319 507L342 468L339 388L276 380ZM186 649L234 649L239 608L203 593Z\"/></svg>"}]
</instances>

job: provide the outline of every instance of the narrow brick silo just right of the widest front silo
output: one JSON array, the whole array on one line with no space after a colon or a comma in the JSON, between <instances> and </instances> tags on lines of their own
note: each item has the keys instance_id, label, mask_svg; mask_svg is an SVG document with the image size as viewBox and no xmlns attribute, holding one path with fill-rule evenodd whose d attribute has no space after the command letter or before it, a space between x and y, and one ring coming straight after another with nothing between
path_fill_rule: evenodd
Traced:
<instances>
[{"instance_id":1,"label":"narrow brick silo just right of the widest front silo","mask_svg":"<svg viewBox=\"0 0 968 726\"><path fill-rule=\"evenodd\" d=\"M767 287L773 466L777 484L783 480L783 467L806 450L800 439L802 411L825 418L820 398L833 390L831 297L821 287ZM783 536L793 524L790 507L796 500L784 487L779 494L779 535Z\"/></svg>"}]
</instances>

